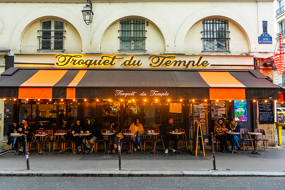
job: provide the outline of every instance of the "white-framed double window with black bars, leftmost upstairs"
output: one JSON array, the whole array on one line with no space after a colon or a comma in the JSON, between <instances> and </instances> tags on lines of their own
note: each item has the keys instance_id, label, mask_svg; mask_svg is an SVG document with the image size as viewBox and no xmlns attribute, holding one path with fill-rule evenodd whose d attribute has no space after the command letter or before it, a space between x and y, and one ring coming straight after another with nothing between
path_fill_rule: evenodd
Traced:
<instances>
[{"instance_id":1,"label":"white-framed double window with black bars, leftmost upstairs","mask_svg":"<svg viewBox=\"0 0 285 190\"><path fill-rule=\"evenodd\" d=\"M64 32L66 31L64 30L63 21L55 19L42 21L41 30L38 30L38 32L40 32L40 36L38 36L40 47L38 50L64 51Z\"/></svg>"}]
</instances>

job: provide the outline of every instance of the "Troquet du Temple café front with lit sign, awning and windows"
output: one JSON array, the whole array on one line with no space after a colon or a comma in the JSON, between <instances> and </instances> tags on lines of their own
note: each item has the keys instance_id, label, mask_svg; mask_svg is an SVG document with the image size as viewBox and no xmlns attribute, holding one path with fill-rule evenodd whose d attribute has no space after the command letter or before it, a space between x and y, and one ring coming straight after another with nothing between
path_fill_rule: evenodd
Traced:
<instances>
[{"instance_id":1,"label":"Troquet du Temple caf\u00e9 front with lit sign, awning and windows","mask_svg":"<svg viewBox=\"0 0 285 190\"><path fill-rule=\"evenodd\" d=\"M35 130L68 130L93 117L102 129L110 120L124 129L138 117L155 129L171 116L191 152L195 121L205 142L218 118L253 131L257 103L274 103L279 89L253 56L15 54L0 77L5 127L28 118Z\"/></svg>"}]
</instances>

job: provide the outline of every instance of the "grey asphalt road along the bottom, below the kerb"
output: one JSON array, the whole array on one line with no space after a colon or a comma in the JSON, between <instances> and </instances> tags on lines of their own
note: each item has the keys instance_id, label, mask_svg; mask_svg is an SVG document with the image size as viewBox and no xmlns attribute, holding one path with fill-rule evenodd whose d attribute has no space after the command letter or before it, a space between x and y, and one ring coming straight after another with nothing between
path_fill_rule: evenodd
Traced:
<instances>
[{"instance_id":1,"label":"grey asphalt road along the bottom, below the kerb","mask_svg":"<svg viewBox=\"0 0 285 190\"><path fill-rule=\"evenodd\" d=\"M0 177L1 190L284 189L284 177Z\"/></svg>"}]
</instances>

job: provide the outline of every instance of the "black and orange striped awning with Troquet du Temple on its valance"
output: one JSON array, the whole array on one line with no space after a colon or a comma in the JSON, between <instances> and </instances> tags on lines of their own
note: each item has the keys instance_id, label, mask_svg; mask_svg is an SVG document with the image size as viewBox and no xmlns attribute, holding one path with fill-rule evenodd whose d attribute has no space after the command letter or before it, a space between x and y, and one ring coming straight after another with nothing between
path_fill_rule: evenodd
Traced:
<instances>
[{"instance_id":1,"label":"black and orange striped awning with Troquet du Temple on its valance","mask_svg":"<svg viewBox=\"0 0 285 190\"><path fill-rule=\"evenodd\" d=\"M9 68L0 98L278 99L260 71L60 70Z\"/></svg>"}]
</instances>

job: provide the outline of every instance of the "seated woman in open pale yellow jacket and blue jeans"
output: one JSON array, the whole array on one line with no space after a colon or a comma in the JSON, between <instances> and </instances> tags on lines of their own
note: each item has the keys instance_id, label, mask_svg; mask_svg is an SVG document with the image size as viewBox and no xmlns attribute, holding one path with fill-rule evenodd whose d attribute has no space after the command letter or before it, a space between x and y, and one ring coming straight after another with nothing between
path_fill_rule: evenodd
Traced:
<instances>
[{"instance_id":1,"label":"seated woman in open pale yellow jacket and blue jeans","mask_svg":"<svg viewBox=\"0 0 285 190\"><path fill-rule=\"evenodd\" d=\"M137 149L140 149L139 144L141 142L141 138L144 132L143 124L141 124L139 119L136 119L135 122L131 124L129 132L135 133L131 136L131 138L135 146L135 151L137 151Z\"/></svg>"}]
</instances>

